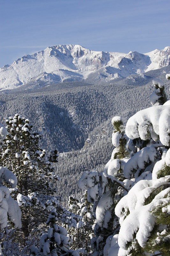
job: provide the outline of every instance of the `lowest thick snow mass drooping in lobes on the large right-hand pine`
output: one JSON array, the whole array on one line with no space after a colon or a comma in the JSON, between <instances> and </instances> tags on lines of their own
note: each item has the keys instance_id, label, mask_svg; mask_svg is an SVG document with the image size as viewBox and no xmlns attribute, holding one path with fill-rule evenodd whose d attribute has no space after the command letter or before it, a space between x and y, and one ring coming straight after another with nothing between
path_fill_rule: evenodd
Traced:
<instances>
[{"instance_id":1,"label":"lowest thick snow mass drooping in lobes on the large right-hand pine","mask_svg":"<svg viewBox=\"0 0 170 256\"><path fill-rule=\"evenodd\" d=\"M120 228L118 244L122 249L127 249L127 243L133 240L134 233L136 233L139 245L145 246L155 224L151 211L160 204L169 203L169 197L166 197L168 193L170 193L170 188L162 190L150 204L136 204L135 210L126 217ZM145 196L143 191L141 194Z\"/></svg>"}]
</instances>

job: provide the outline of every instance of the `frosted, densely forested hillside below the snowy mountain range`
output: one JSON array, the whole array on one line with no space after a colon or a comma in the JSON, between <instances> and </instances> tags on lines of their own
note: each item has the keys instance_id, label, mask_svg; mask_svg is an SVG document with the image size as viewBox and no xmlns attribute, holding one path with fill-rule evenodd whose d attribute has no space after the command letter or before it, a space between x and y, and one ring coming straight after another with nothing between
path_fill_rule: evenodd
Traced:
<instances>
[{"instance_id":1,"label":"frosted, densely forested hillside below the snowy mountain range","mask_svg":"<svg viewBox=\"0 0 170 256\"><path fill-rule=\"evenodd\" d=\"M58 189L66 201L68 195L79 193L77 180L83 171L102 171L110 158L111 118L122 115L126 123L129 116L149 107L154 77L165 82L168 92L168 72L165 67L114 83L75 82L4 91L0 94L0 121L4 123L15 113L24 115L43 132L41 143L47 152L58 149L61 154L55 168L62 178Z\"/></svg>"}]
</instances>

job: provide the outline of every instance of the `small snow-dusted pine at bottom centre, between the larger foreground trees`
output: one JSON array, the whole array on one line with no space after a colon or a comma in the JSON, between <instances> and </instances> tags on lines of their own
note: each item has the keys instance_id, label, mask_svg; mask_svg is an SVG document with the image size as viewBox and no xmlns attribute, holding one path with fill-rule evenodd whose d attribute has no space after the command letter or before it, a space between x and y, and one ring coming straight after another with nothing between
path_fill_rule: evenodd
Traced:
<instances>
[{"instance_id":1,"label":"small snow-dusted pine at bottom centre, between the larger foreground trees","mask_svg":"<svg viewBox=\"0 0 170 256\"><path fill-rule=\"evenodd\" d=\"M72 237L71 249L78 250L80 255L92 255L91 238L94 236L92 227L94 225L94 212L92 203L87 200L87 191L84 193L80 202L69 196L68 202L70 212L79 214L82 220L77 223L77 228L68 230L69 236Z\"/></svg>"}]
</instances>

